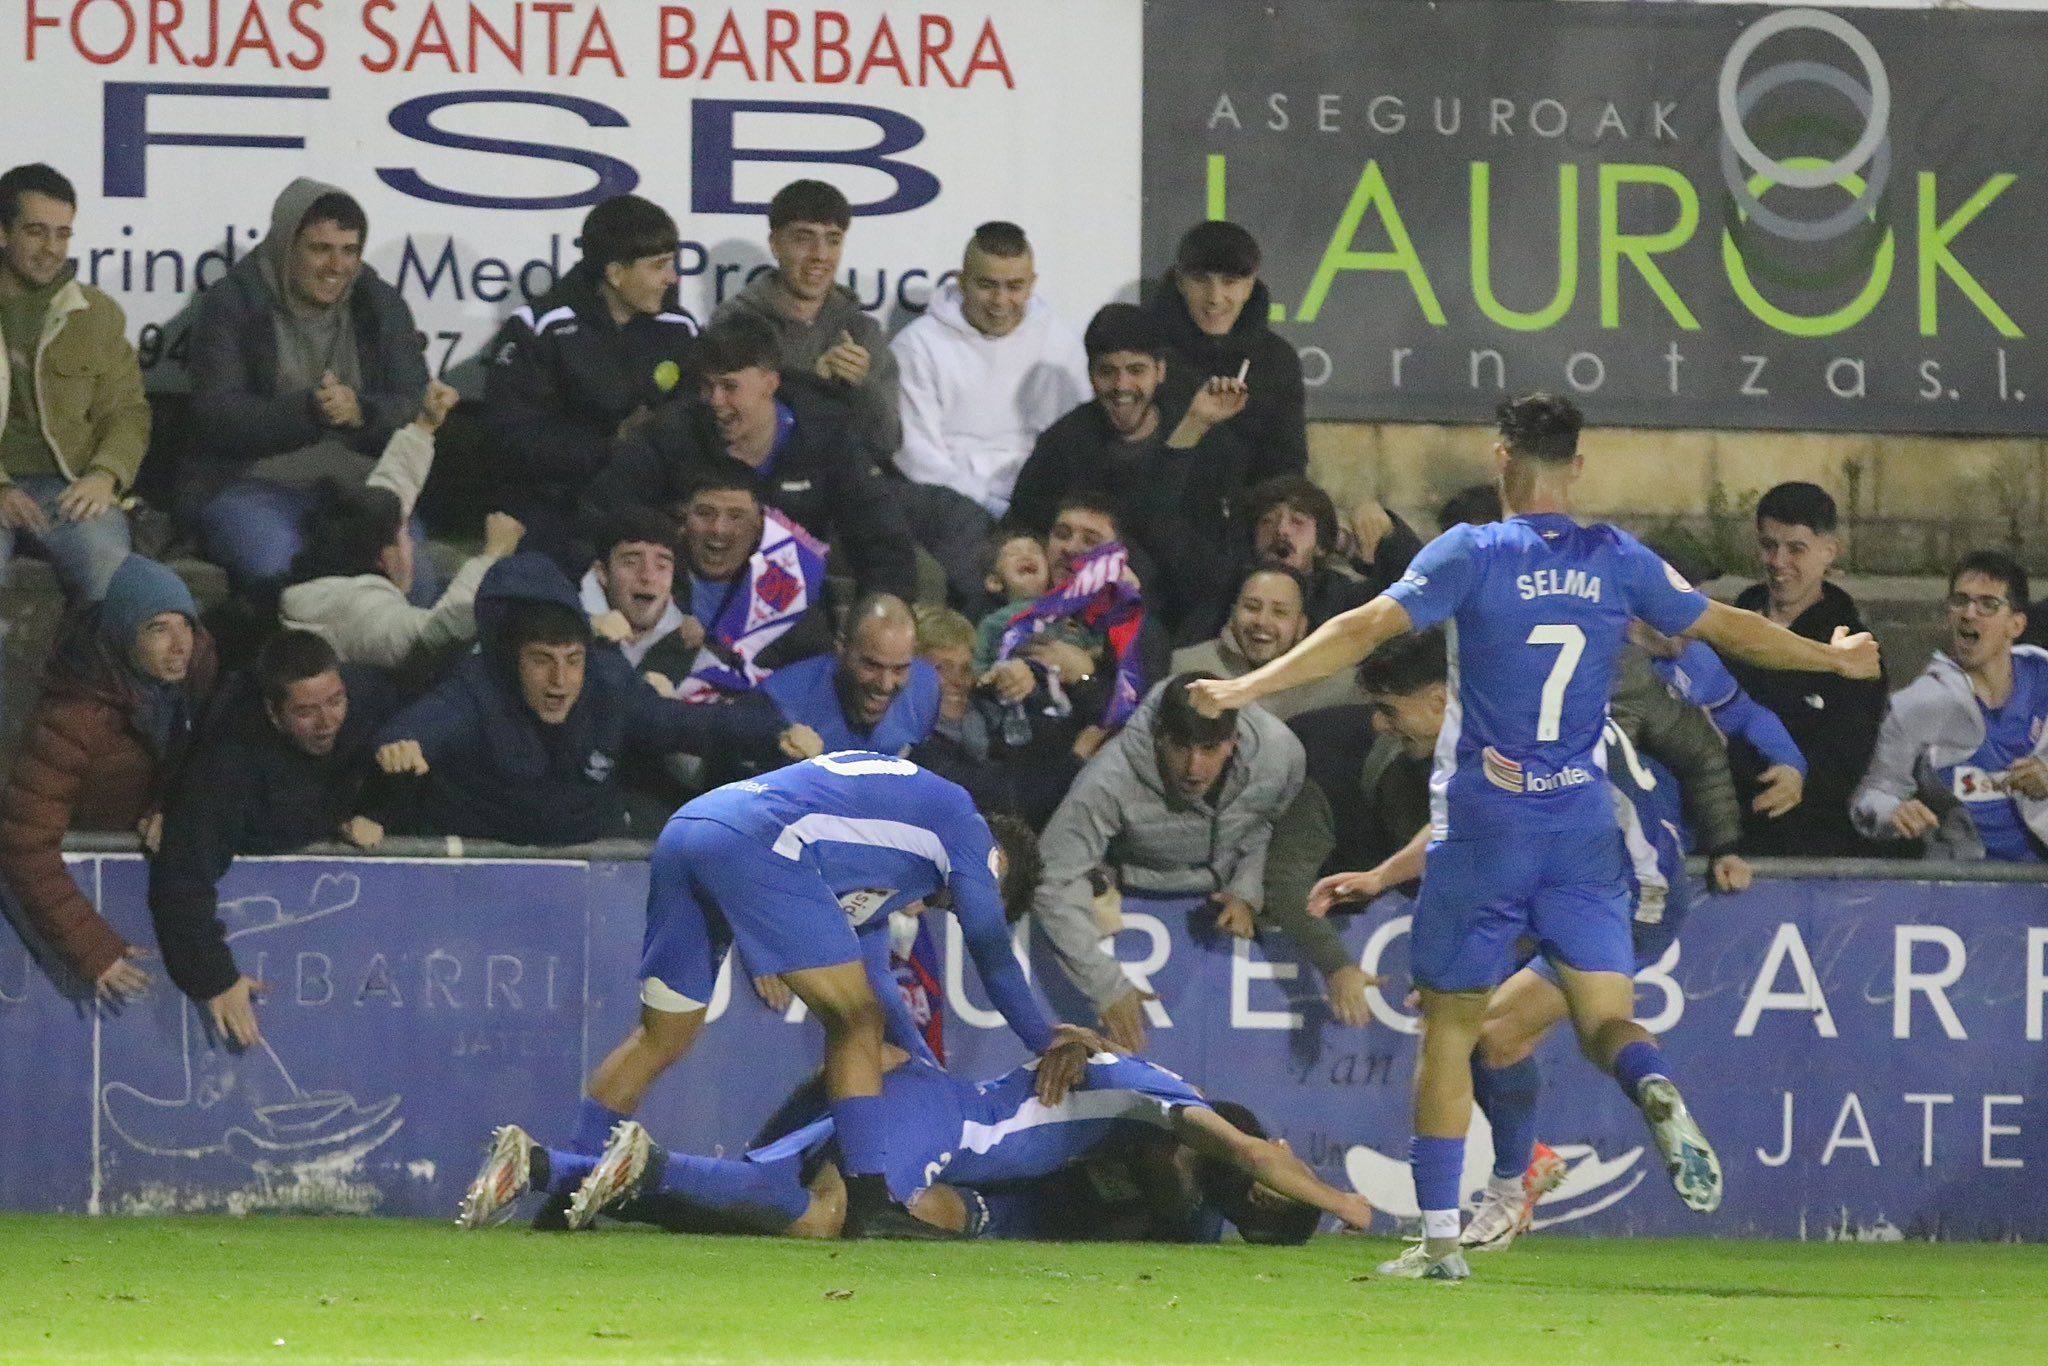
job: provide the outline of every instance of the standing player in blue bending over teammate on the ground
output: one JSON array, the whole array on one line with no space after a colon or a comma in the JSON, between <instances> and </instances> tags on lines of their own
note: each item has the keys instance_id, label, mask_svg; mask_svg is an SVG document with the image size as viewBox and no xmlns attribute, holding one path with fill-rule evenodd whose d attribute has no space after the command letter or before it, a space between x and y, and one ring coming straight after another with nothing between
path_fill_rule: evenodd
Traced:
<instances>
[{"instance_id":1,"label":"standing player in blue bending over teammate on the ground","mask_svg":"<svg viewBox=\"0 0 2048 1366\"><path fill-rule=\"evenodd\" d=\"M1010 942L1006 907L1028 907L1036 842L999 821L1001 848L973 799L909 760L823 754L760 778L729 782L684 805L655 842L641 950L641 1022L598 1065L565 1155L596 1155L696 1042L727 948L748 971L776 975L825 1028L825 1096L838 1126L856 1237L922 1237L928 1225L889 1198L889 1135L881 1096L885 1036L928 1057L889 975L889 915L946 905L991 1004L1040 1055L1034 1081L1057 1104L1106 1044L1053 1026ZM528 1190L530 1143L494 1135L459 1223L489 1223ZM580 1173L559 1161L549 1194Z\"/></svg>"}]
</instances>

